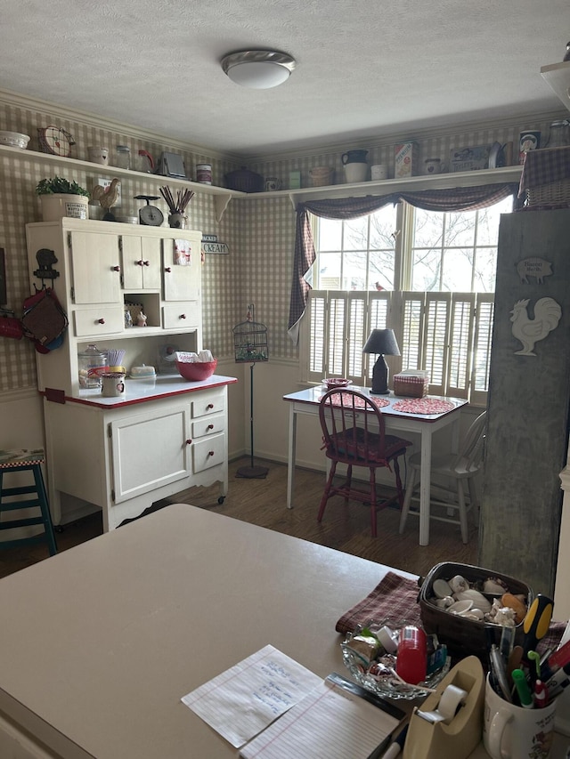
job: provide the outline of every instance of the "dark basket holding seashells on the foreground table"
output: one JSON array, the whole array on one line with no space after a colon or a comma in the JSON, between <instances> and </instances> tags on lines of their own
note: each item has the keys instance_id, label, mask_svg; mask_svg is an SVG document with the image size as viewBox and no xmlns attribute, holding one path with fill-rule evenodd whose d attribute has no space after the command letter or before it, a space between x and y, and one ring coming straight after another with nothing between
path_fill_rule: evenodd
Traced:
<instances>
[{"instance_id":1,"label":"dark basket holding seashells on the foreground table","mask_svg":"<svg viewBox=\"0 0 570 759\"><path fill-rule=\"evenodd\" d=\"M469 564L456 564L453 562L443 562L436 564L429 570L428 577L424 580L419 591L419 614L426 633L436 634L440 643L445 643L452 658L464 658L474 655L480 658L485 664L488 662L487 640L485 635L485 626L491 626L496 629L497 644L501 638L502 627L493 625L493 623L467 619L453 614L451 611L439 609L430 600L433 600L435 593L433 591L434 581L436 579L449 580L455 575L465 577L469 583L484 581L488 577L498 577L509 588L510 593L525 595L527 606L533 602L533 591L528 585L509 577L495 572L493 569L483 569L482 567L472 567ZM492 594L484 595L493 602ZM515 642L522 645L524 642L523 623L519 623L515 628Z\"/></svg>"}]
</instances>

